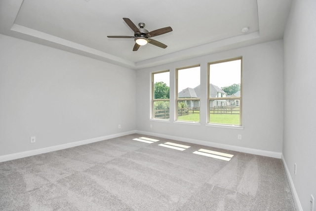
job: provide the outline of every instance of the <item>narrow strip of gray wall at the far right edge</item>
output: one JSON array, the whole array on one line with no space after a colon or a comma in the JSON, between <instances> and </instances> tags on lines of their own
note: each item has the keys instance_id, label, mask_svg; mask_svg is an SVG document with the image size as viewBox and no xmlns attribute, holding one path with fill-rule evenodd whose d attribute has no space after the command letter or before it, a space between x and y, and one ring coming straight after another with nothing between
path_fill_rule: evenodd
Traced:
<instances>
[{"instance_id":1,"label":"narrow strip of gray wall at the far right edge","mask_svg":"<svg viewBox=\"0 0 316 211\"><path fill-rule=\"evenodd\" d=\"M316 1L294 0L284 35L283 156L304 211L316 199L315 93Z\"/></svg>"}]
</instances>

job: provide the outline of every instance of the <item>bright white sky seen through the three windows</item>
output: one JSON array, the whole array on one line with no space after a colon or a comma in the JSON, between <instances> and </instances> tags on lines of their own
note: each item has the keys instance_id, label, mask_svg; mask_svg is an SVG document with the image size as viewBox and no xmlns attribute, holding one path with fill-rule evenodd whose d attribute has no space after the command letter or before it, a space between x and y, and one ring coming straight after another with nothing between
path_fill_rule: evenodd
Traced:
<instances>
[{"instance_id":1,"label":"bright white sky seen through the three windows","mask_svg":"<svg viewBox=\"0 0 316 211\"><path fill-rule=\"evenodd\" d=\"M240 62L241 60L222 62L210 65L210 84L218 87L240 84ZM207 71L207 70L205 70ZM155 74L156 82L164 82L170 86L169 72ZM178 70L178 90L187 87L195 88L200 84L200 67Z\"/></svg>"}]
</instances>

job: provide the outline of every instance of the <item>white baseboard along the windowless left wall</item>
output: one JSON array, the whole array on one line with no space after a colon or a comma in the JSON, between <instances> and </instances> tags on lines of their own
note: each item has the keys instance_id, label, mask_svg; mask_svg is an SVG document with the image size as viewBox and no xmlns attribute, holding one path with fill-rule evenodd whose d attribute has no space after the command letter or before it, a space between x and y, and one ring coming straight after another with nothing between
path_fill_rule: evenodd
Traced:
<instances>
[{"instance_id":1,"label":"white baseboard along the windowless left wall","mask_svg":"<svg viewBox=\"0 0 316 211\"><path fill-rule=\"evenodd\" d=\"M116 137L120 137L120 136L124 136L124 135L134 134L134 133L136 133L136 130L121 132L121 133L112 134L112 135L101 136L101 137L97 137L97 138L90 138L90 139L75 141L75 142L71 142L71 143L67 143L67 144L45 147L45 148L40 148L40 149L35 149L35 150L30 150L30 151L25 151L25 152L19 152L19 153L14 153L14 154L9 154L9 155L2 155L2 156L0 156L0 163L4 162L4 161L10 161L10 160L25 158L25 157L29 157L29 156L33 156L33 155L40 155L40 154L47 153L47 152L52 152L52 151L67 149L67 148L71 148L71 147L76 147L76 146L80 146L80 145L84 145L84 144L90 144L93 142L103 141L103 140L116 138Z\"/></svg>"}]
</instances>

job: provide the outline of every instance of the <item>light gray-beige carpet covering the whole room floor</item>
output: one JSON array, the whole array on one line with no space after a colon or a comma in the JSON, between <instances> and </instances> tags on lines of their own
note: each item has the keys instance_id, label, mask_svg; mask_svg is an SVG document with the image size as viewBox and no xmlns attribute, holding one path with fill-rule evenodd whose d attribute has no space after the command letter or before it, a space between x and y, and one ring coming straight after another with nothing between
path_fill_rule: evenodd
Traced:
<instances>
[{"instance_id":1,"label":"light gray-beige carpet covering the whole room floor","mask_svg":"<svg viewBox=\"0 0 316 211\"><path fill-rule=\"evenodd\" d=\"M295 210L280 159L140 137L0 163L0 210Z\"/></svg>"}]
</instances>

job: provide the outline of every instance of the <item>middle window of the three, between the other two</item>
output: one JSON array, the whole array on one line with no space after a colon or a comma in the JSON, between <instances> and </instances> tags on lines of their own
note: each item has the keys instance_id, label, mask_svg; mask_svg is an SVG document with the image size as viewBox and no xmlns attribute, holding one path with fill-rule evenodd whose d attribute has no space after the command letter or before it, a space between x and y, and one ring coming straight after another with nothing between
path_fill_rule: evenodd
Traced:
<instances>
[{"instance_id":1,"label":"middle window of the three, between the other two","mask_svg":"<svg viewBox=\"0 0 316 211\"><path fill-rule=\"evenodd\" d=\"M176 70L177 120L199 122L200 67Z\"/></svg>"}]
</instances>

